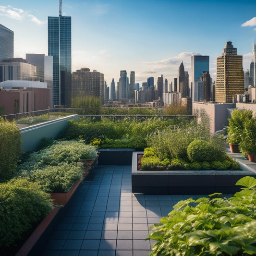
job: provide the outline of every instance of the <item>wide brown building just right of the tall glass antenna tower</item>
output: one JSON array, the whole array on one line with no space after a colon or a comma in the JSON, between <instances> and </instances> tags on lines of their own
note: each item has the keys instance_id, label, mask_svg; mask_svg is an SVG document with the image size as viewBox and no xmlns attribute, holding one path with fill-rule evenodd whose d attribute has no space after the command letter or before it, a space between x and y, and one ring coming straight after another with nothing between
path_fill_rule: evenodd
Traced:
<instances>
[{"instance_id":1,"label":"wide brown building just right of the tall glass antenna tower","mask_svg":"<svg viewBox=\"0 0 256 256\"><path fill-rule=\"evenodd\" d=\"M104 104L104 74L88 68L81 68L72 73L72 97L84 93L86 96L95 96Z\"/></svg>"}]
</instances>

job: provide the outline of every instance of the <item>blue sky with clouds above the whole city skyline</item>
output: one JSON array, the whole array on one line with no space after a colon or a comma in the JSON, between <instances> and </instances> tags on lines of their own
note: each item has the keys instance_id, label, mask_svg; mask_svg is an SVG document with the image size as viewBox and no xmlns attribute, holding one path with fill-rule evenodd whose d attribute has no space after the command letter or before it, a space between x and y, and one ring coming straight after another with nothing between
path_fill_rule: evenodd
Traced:
<instances>
[{"instance_id":1,"label":"blue sky with clouds above the whole city skyline","mask_svg":"<svg viewBox=\"0 0 256 256\"><path fill-rule=\"evenodd\" d=\"M8 3L6 3L8 2ZM58 0L0 2L0 23L14 31L14 57L45 53L47 18L59 15ZM256 0L62 0L62 15L72 16L72 70L104 73L107 84L120 70L135 71L135 82L163 74L168 82L183 61L191 77L191 56L216 57L226 41L243 55L244 70L256 43Z\"/></svg>"}]
</instances>

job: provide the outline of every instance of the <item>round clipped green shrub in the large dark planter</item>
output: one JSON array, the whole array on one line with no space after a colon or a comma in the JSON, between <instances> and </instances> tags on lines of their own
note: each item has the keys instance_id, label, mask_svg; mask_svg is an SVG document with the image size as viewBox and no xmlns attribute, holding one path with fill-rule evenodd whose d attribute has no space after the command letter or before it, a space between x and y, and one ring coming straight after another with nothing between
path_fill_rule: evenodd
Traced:
<instances>
[{"instance_id":1,"label":"round clipped green shrub in the large dark planter","mask_svg":"<svg viewBox=\"0 0 256 256\"><path fill-rule=\"evenodd\" d=\"M213 147L208 141L194 140L187 147L188 158L191 162L210 161Z\"/></svg>"}]
</instances>

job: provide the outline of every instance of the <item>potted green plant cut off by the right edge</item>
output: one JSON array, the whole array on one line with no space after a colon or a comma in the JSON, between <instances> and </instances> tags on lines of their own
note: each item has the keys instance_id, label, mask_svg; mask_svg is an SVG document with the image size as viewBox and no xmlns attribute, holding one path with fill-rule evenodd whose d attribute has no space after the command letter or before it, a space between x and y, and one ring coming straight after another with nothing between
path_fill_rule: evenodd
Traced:
<instances>
[{"instance_id":1,"label":"potted green plant cut off by the right edge","mask_svg":"<svg viewBox=\"0 0 256 256\"><path fill-rule=\"evenodd\" d=\"M256 162L256 116L244 122L244 133L239 148L244 157L247 154L249 161Z\"/></svg>"}]
</instances>

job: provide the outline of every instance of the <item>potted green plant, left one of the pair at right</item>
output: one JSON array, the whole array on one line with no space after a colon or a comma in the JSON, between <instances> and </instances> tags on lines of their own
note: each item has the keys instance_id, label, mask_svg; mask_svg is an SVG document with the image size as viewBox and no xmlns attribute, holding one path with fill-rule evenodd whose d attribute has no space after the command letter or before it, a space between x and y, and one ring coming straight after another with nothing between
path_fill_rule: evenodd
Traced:
<instances>
[{"instance_id":1,"label":"potted green plant, left one of the pair at right","mask_svg":"<svg viewBox=\"0 0 256 256\"><path fill-rule=\"evenodd\" d=\"M244 122L246 119L252 118L252 110L233 110L231 118L228 119L229 126L227 127L228 139L232 153L239 153L238 144L242 141L244 133Z\"/></svg>"}]
</instances>

